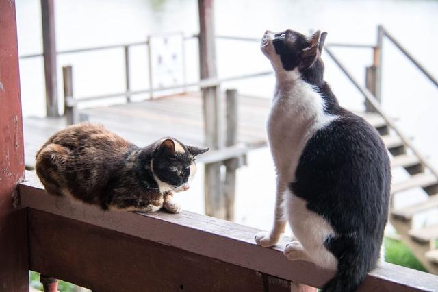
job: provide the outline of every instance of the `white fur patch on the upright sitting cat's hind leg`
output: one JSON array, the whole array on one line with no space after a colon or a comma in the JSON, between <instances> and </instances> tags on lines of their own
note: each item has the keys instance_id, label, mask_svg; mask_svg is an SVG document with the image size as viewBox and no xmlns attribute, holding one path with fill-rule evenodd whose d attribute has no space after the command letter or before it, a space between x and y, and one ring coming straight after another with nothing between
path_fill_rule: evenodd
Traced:
<instances>
[{"instance_id":1,"label":"white fur patch on the upright sitting cat's hind leg","mask_svg":"<svg viewBox=\"0 0 438 292\"><path fill-rule=\"evenodd\" d=\"M289 190L285 191L286 212L294 236L301 243L306 256L316 265L337 268L337 258L324 246L324 241L335 231L322 216L311 212L306 201Z\"/></svg>"}]
</instances>

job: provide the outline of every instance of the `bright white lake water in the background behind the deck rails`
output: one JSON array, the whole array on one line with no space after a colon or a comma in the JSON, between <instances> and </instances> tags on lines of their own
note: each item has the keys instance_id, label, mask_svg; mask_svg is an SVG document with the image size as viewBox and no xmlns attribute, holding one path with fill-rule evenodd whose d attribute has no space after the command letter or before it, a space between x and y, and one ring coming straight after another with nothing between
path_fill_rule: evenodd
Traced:
<instances>
[{"instance_id":1,"label":"bright white lake water in the background behind the deck rails","mask_svg":"<svg viewBox=\"0 0 438 292\"><path fill-rule=\"evenodd\" d=\"M138 42L157 32L198 32L197 1L194 0L57 0L55 1L57 49L75 49ZM266 29L285 28L299 32L322 29L329 32L326 42L374 44L376 27L384 25L433 75L438 76L438 1L339 1L339 0L220 0L216 1L216 33L259 38ZM40 1L16 1L18 43L21 55L42 51ZM422 76L388 42L383 53L383 108L413 138L413 143L438 167L438 89ZM75 95L97 95L124 90L123 51L62 55L59 67L73 64ZM133 90L147 87L144 47L131 51ZM372 62L367 49L335 49L337 56L359 80ZM259 44L218 40L220 77L270 69ZM324 55L326 80L342 105L360 110L363 98L346 77ZM23 114L44 115L42 58L21 60ZM188 43L188 80L198 77L196 42ZM62 80L60 72L59 79ZM274 77L229 82L225 88L270 98ZM61 86L59 86L61 87ZM59 89L60 96L61 88ZM166 133L163 133L166 136ZM238 171L235 221L268 229L274 204L274 168L268 149L248 155L248 167ZM406 174L396 173L394 180ZM194 186L178 197L185 210L203 212L203 173ZM401 195L396 204L424 199L420 192ZM424 223L422 217L419 224Z\"/></svg>"}]
</instances>

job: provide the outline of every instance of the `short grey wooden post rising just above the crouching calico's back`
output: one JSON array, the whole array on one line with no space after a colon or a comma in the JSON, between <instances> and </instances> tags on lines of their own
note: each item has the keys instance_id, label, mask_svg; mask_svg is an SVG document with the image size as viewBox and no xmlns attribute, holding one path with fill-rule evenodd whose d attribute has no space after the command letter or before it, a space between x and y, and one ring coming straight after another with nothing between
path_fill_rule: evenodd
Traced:
<instances>
[{"instance_id":1,"label":"short grey wooden post rising just above the crouching calico's back","mask_svg":"<svg viewBox=\"0 0 438 292\"><path fill-rule=\"evenodd\" d=\"M77 106L73 104L73 69L72 66L62 67L62 80L64 85L64 116L67 125L79 122Z\"/></svg>"}]
</instances>

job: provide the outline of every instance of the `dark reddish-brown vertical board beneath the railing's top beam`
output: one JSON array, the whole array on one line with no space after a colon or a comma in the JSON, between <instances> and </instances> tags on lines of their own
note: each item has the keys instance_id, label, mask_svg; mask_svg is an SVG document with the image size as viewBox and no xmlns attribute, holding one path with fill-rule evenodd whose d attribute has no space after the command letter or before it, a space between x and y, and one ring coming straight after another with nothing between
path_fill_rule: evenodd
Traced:
<instances>
[{"instance_id":1,"label":"dark reddish-brown vertical board beneath the railing's top beam","mask_svg":"<svg viewBox=\"0 0 438 292\"><path fill-rule=\"evenodd\" d=\"M29 234L32 270L94 291L290 291L281 278L32 208Z\"/></svg>"}]
</instances>

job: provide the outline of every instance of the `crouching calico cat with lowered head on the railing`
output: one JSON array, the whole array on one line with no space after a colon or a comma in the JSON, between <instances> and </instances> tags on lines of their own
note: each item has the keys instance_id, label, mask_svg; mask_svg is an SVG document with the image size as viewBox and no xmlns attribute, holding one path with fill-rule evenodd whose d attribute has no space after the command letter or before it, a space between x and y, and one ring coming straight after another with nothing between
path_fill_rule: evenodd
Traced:
<instances>
[{"instance_id":1,"label":"crouching calico cat with lowered head on the railing","mask_svg":"<svg viewBox=\"0 0 438 292\"><path fill-rule=\"evenodd\" d=\"M174 192L196 173L195 157L208 149L163 138L144 148L101 125L81 123L55 135L36 154L36 173L51 195L103 210L180 212Z\"/></svg>"}]
</instances>

